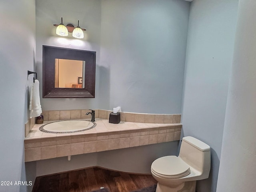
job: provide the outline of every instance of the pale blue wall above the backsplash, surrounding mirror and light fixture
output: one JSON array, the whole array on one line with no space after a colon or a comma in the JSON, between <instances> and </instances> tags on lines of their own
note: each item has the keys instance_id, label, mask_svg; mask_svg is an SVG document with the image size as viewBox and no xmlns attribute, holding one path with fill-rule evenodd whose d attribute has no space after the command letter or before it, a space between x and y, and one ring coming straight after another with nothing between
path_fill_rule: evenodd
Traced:
<instances>
[{"instance_id":1,"label":"pale blue wall above the backsplash, surrounding mirror and light fixture","mask_svg":"<svg viewBox=\"0 0 256 192\"><path fill-rule=\"evenodd\" d=\"M42 45L97 52L96 97L42 99L43 110L121 106L126 112L179 114L189 6L183 0L36 0L39 78ZM86 38L54 34L61 17L64 24L80 20Z\"/></svg>"}]
</instances>

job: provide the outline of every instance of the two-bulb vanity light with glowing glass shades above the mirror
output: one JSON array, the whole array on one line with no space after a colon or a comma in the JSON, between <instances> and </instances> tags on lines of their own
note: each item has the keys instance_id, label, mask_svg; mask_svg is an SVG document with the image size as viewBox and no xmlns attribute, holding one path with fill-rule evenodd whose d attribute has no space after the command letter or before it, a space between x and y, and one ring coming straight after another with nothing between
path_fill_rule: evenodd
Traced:
<instances>
[{"instance_id":1,"label":"two-bulb vanity light with glowing glass shades above the mirror","mask_svg":"<svg viewBox=\"0 0 256 192\"><path fill-rule=\"evenodd\" d=\"M86 31L86 29L82 29L79 26L79 20L78 20L78 26L75 28L74 25L72 24L67 24L67 26L65 26L62 23L62 18L61 18L61 24L57 25L54 24L54 26L57 27L56 29L56 34L60 35L60 36L68 36L68 32L72 33L72 36L75 38L84 38L84 32Z\"/></svg>"}]
</instances>

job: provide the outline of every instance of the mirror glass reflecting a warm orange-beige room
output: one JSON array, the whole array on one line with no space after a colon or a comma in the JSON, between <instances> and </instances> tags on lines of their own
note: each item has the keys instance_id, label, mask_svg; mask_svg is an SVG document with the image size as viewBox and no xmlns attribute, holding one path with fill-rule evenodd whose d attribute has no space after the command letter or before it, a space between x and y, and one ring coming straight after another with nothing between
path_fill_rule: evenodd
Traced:
<instances>
[{"instance_id":1,"label":"mirror glass reflecting a warm orange-beige room","mask_svg":"<svg viewBox=\"0 0 256 192\"><path fill-rule=\"evenodd\" d=\"M55 58L55 88L84 88L85 61Z\"/></svg>"}]
</instances>

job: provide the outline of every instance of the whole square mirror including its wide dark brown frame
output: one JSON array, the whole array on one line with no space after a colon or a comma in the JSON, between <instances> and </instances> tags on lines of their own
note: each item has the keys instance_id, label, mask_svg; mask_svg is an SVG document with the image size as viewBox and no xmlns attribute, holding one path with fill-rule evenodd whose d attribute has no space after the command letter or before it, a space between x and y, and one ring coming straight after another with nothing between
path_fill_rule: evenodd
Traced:
<instances>
[{"instance_id":1,"label":"whole square mirror including its wide dark brown frame","mask_svg":"<svg viewBox=\"0 0 256 192\"><path fill-rule=\"evenodd\" d=\"M96 52L43 45L43 98L95 98Z\"/></svg>"}]
</instances>

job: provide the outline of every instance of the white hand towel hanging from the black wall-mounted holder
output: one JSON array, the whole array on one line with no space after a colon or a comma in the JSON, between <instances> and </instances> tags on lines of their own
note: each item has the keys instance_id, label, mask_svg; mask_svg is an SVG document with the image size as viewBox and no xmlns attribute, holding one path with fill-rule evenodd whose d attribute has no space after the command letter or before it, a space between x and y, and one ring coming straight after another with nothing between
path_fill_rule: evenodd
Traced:
<instances>
[{"instance_id":1,"label":"white hand towel hanging from the black wall-mounted holder","mask_svg":"<svg viewBox=\"0 0 256 192\"><path fill-rule=\"evenodd\" d=\"M38 117L42 113L39 94L39 81L35 80L32 94L32 117Z\"/></svg>"}]
</instances>

